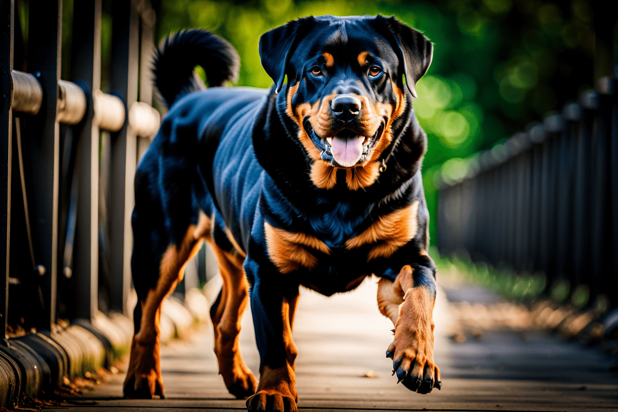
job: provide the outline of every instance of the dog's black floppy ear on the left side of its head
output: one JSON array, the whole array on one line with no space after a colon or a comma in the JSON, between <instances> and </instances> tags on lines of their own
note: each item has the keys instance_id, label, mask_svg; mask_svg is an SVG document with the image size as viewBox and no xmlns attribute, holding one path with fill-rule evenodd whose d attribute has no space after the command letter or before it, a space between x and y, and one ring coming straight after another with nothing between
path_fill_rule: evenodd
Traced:
<instances>
[{"instance_id":1,"label":"dog's black floppy ear on the left side of its head","mask_svg":"<svg viewBox=\"0 0 618 412\"><path fill-rule=\"evenodd\" d=\"M281 91L287 65L298 41L315 25L313 16L292 20L260 37L260 59L266 73L273 78L276 93Z\"/></svg>"}]
</instances>

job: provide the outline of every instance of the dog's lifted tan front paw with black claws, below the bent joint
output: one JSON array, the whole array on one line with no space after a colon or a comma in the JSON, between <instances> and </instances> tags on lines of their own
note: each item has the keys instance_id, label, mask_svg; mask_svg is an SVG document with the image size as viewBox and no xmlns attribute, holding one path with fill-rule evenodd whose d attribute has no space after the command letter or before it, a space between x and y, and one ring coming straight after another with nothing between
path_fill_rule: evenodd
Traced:
<instances>
[{"instance_id":1,"label":"dog's lifted tan front paw with black claws, below the bent joint","mask_svg":"<svg viewBox=\"0 0 618 412\"><path fill-rule=\"evenodd\" d=\"M421 288L415 288L419 295L425 295ZM429 393L440 389L440 369L433 359L433 322L431 308L423 305L425 296L407 294L401 304L400 316L395 325L395 340L389 345L386 357L393 360L393 374L397 383L418 393ZM423 307L425 306L425 307Z\"/></svg>"}]
</instances>

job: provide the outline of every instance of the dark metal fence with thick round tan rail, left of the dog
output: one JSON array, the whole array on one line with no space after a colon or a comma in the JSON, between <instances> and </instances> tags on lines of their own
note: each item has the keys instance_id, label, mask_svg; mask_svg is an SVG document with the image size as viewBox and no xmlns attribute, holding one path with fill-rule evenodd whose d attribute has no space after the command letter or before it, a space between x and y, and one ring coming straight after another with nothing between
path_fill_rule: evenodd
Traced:
<instances>
[{"instance_id":1,"label":"dark metal fence with thick round tan rail, left of the dog","mask_svg":"<svg viewBox=\"0 0 618 412\"><path fill-rule=\"evenodd\" d=\"M0 406L109 366L133 334L133 176L160 121L156 13L148 0L71 3L62 22L62 0L0 0ZM187 288L205 281L205 251L200 266Z\"/></svg>"}]
</instances>

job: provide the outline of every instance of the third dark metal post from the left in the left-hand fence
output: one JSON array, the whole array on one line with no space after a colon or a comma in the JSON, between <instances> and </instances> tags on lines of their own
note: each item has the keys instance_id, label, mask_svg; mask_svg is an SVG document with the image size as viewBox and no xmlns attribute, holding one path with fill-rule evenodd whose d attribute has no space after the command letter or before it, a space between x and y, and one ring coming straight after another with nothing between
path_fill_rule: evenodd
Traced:
<instances>
[{"instance_id":1,"label":"third dark metal post from the left in the left-hand fence","mask_svg":"<svg viewBox=\"0 0 618 412\"><path fill-rule=\"evenodd\" d=\"M71 71L90 95L77 148L78 200L75 230L75 315L92 319L98 311L99 127L93 121L92 92L101 88L101 0L77 1L73 11ZM77 133L78 130L75 130Z\"/></svg>"}]
</instances>

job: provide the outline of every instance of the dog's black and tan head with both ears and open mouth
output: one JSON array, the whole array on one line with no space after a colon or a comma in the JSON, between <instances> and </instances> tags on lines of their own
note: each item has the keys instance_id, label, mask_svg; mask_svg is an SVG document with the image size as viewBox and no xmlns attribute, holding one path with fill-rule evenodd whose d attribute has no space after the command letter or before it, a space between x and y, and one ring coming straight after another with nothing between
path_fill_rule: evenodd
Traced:
<instances>
[{"instance_id":1,"label":"dog's black and tan head with both ears and open mouth","mask_svg":"<svg viewBox=\"0 0 618 412\"><path fill-rule=\"evenodd\" d=\"M314 162L359 168L380 158L391 124L408 104L404 88L427 71L433 46L394 17L306 17L260 38L263 67ZM403 77L405 75L406 85Z\"/></svg>"}]
</instances>

